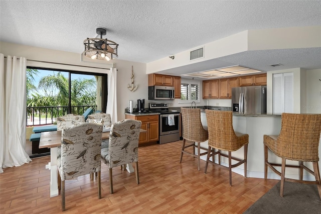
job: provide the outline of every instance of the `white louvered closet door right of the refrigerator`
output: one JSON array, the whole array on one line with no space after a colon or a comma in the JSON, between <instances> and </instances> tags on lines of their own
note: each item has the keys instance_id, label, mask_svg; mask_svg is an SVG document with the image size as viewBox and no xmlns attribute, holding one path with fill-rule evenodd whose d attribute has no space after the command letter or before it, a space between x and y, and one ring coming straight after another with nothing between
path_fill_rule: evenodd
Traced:
<instances>
[{"instance_id":1,"label":"white louvered closet door right of the refrigerator","mask_svg":"<svg viewBox=\"0 0 321 214\"><path fill-rule=\"evenodd\" d=\"M273 113L293 113L293 73L273 74Z\"/></svg>"}]
</instances>

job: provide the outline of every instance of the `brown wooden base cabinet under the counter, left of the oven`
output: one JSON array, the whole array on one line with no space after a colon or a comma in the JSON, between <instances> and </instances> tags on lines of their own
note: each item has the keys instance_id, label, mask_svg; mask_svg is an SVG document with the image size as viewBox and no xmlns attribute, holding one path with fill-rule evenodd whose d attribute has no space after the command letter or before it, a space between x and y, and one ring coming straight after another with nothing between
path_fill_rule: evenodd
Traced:
<instances>
[{"instance_id":1,"label":"brown wooden base cabinet under the counter, left of the oven","mask_svg":"<svg viewBox=\"0 0 321 214\"><path fill-rule=\"evenodd\" d=\"M139 134L138 145L143 145L149 142L155 142L159 140L159 116L158 115L144 115L144 116L133 116L125 115L126 119L132 119L141 121L141 129L147 132Z\"/></svg>"}]
</instances>

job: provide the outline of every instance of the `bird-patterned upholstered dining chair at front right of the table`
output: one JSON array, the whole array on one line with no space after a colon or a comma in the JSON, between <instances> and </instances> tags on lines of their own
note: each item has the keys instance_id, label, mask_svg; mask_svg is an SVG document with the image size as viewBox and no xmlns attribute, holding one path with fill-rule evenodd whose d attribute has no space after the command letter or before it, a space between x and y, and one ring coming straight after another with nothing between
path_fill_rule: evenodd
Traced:
<instances>
[{"instance_id":1,"label":"bird-patterned upholstered dining chair at front right of the table","mask_svg":"<svg viewBox=\"0 0 321 214\"><path fill-rule=\"evenodd\" d=\"M141 122L126 119L111 125L109 146L101 148L101 159L109 168L110 193L113 193L112 168L128 163L136 163L136 182L138 175L138 140Z\"/></svg>"}]
</instances>

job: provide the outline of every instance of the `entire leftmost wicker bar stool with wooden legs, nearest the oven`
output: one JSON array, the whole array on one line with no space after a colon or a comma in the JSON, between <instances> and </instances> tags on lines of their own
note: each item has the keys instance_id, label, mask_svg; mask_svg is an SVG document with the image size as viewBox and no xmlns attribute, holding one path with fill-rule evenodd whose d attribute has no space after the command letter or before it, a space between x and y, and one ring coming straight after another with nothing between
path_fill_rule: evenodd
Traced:
<instances>
[{"instance_id":1,"label":"entire leftmost wicker bar stool with wooden legs, nearest the oven","mask_svg":"<svg viewBox=\"0 0 321 214\"><path fill-rule=\"evenodd\" d=\"M203 128L201 123L201 110L181 108L181 113L183 122L183 146L180 163L182 163L183 154L192 155L198 158L198 170L200 171L200 157L207 154L207 152L201 153L201 149L207 150L201 147L201 142L208 140L208 132ZM186 145L186 141L192 143L187 143ZM186 151L188 147L193 147L193 153ZM197 148L198 151L197 155L195 154L195 148Z\"/></svg>"}]
</instances>

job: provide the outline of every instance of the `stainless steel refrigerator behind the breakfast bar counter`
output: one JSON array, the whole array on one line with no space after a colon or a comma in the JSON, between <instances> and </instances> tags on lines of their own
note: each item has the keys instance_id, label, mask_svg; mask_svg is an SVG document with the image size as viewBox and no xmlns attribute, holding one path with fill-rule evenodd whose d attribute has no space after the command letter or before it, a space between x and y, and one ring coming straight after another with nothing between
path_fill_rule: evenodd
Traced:
<instances>
[{"instance_id":1,"label":"stainless steel refrigerator behind the breakfast bar counter","mask_svg":"<svg viewBox=\"0 0 321 214\"><path fill-rule=\"evenodd\" d=\"M240 114L266 113L266 86L232 88L232 111Z\"/></svg>"}]
</instances>

